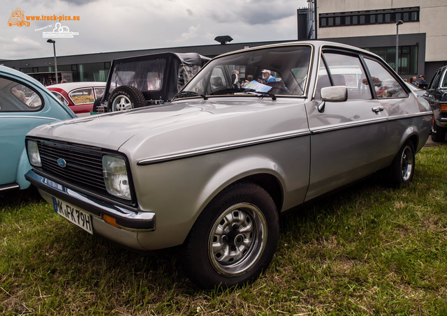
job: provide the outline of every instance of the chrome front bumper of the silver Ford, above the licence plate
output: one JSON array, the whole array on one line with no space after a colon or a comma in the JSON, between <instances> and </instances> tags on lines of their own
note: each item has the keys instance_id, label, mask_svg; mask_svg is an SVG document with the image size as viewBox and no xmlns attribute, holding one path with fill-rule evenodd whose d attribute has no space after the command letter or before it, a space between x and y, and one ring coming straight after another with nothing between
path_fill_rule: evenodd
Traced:
<instances>
[{"instance_id":1,"label":"chrome front bumper of the silver Ford, above the licence plate","mask_svg":"<svg viewBox=\"0 0 447 316\"><path fill-rule=\"evenodd\" d=\"M101 214L115 218L117 225L124 230L132 232L150 232L155 230L155 213L153 212L140 212L133 209L126 209L122 206L98 200L95 197L83 195L60 183L36 174L34 170L29 170L25 174L25 178L39 190L43 190L45 193L57 197L59 200L63 200L68 204L73 204L73 206L96 216L96 218L100 218Z\"/></svg>"}]
</instances>

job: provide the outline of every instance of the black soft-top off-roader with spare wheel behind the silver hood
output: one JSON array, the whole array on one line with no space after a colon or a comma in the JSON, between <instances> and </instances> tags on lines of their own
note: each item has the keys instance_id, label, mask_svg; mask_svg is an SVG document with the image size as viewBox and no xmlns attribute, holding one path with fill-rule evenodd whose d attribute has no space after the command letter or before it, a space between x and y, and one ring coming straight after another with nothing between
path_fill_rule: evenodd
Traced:
<instances>
[{"instance_id":1,"label":"black soft-top off-roader with spare wheel behind the silver hood","mask_svg":"<svg viewBox=\"0 0 447 316\"><path fill-rule=\"evenodd\" d=\"M197 53L174 52L115 59L94 110L115 112L165 103L209 60Z\"/></svg>"}]
</instances>

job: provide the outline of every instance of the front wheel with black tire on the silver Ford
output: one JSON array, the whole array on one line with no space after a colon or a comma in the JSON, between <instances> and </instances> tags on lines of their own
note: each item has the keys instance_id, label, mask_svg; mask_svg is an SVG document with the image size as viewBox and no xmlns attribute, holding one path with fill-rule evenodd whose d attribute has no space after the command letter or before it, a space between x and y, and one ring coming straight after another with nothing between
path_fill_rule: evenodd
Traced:
<instances>
[{"instance_id":1,"label":"front wheel with black tire on the silver Ford","mask_svg":"<svg viewBox=\"0 0 447 316\"><path fill-rule=\"evenodd\" d=\"M180 262L198 287L251 283L270 264L279 236L272 197L254 183L223 190L200 214Z\"/></svg>"}]
</instances>

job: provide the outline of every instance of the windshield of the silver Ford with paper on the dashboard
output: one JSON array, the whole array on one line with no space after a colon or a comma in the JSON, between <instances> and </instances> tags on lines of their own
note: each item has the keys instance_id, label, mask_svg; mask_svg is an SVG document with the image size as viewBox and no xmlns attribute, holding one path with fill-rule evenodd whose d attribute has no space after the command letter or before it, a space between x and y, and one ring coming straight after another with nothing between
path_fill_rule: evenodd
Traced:
<instances>
[{"instance_id":1,"label":"windshield of the silver Ford with paper on the dashboard","mask_svg":"<svg viewBox=\"0 0 447 316\"><path fill-rule=\"evenodd\" d=\"M288 45L218 57L207 63L182 91L198 96L228 96L254 89L277 96L303 96L311 52L309 45ZM183 93L177 98L186 96L191 94Z\"/></svg>"}]
</instances>

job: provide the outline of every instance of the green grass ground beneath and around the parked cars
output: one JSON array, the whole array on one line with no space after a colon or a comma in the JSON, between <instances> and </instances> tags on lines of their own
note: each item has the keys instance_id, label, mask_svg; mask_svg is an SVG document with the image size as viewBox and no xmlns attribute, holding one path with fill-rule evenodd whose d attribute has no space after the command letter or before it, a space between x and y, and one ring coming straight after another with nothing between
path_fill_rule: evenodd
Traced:
<instances>
[{"instance_id":1,"label":"green grass ground beneath and around the parked cars","mask_svg":"<svg viewBox=\"0 0 447 316\"><path fill-rule=\"evenodd\" d=\"M142 256L91 236L34 191L0 208L2 315L447 315L447 146L409 188L379 176L286 213L255 283L201 291L177 248Z\"/></svg>"}]
</instances>

